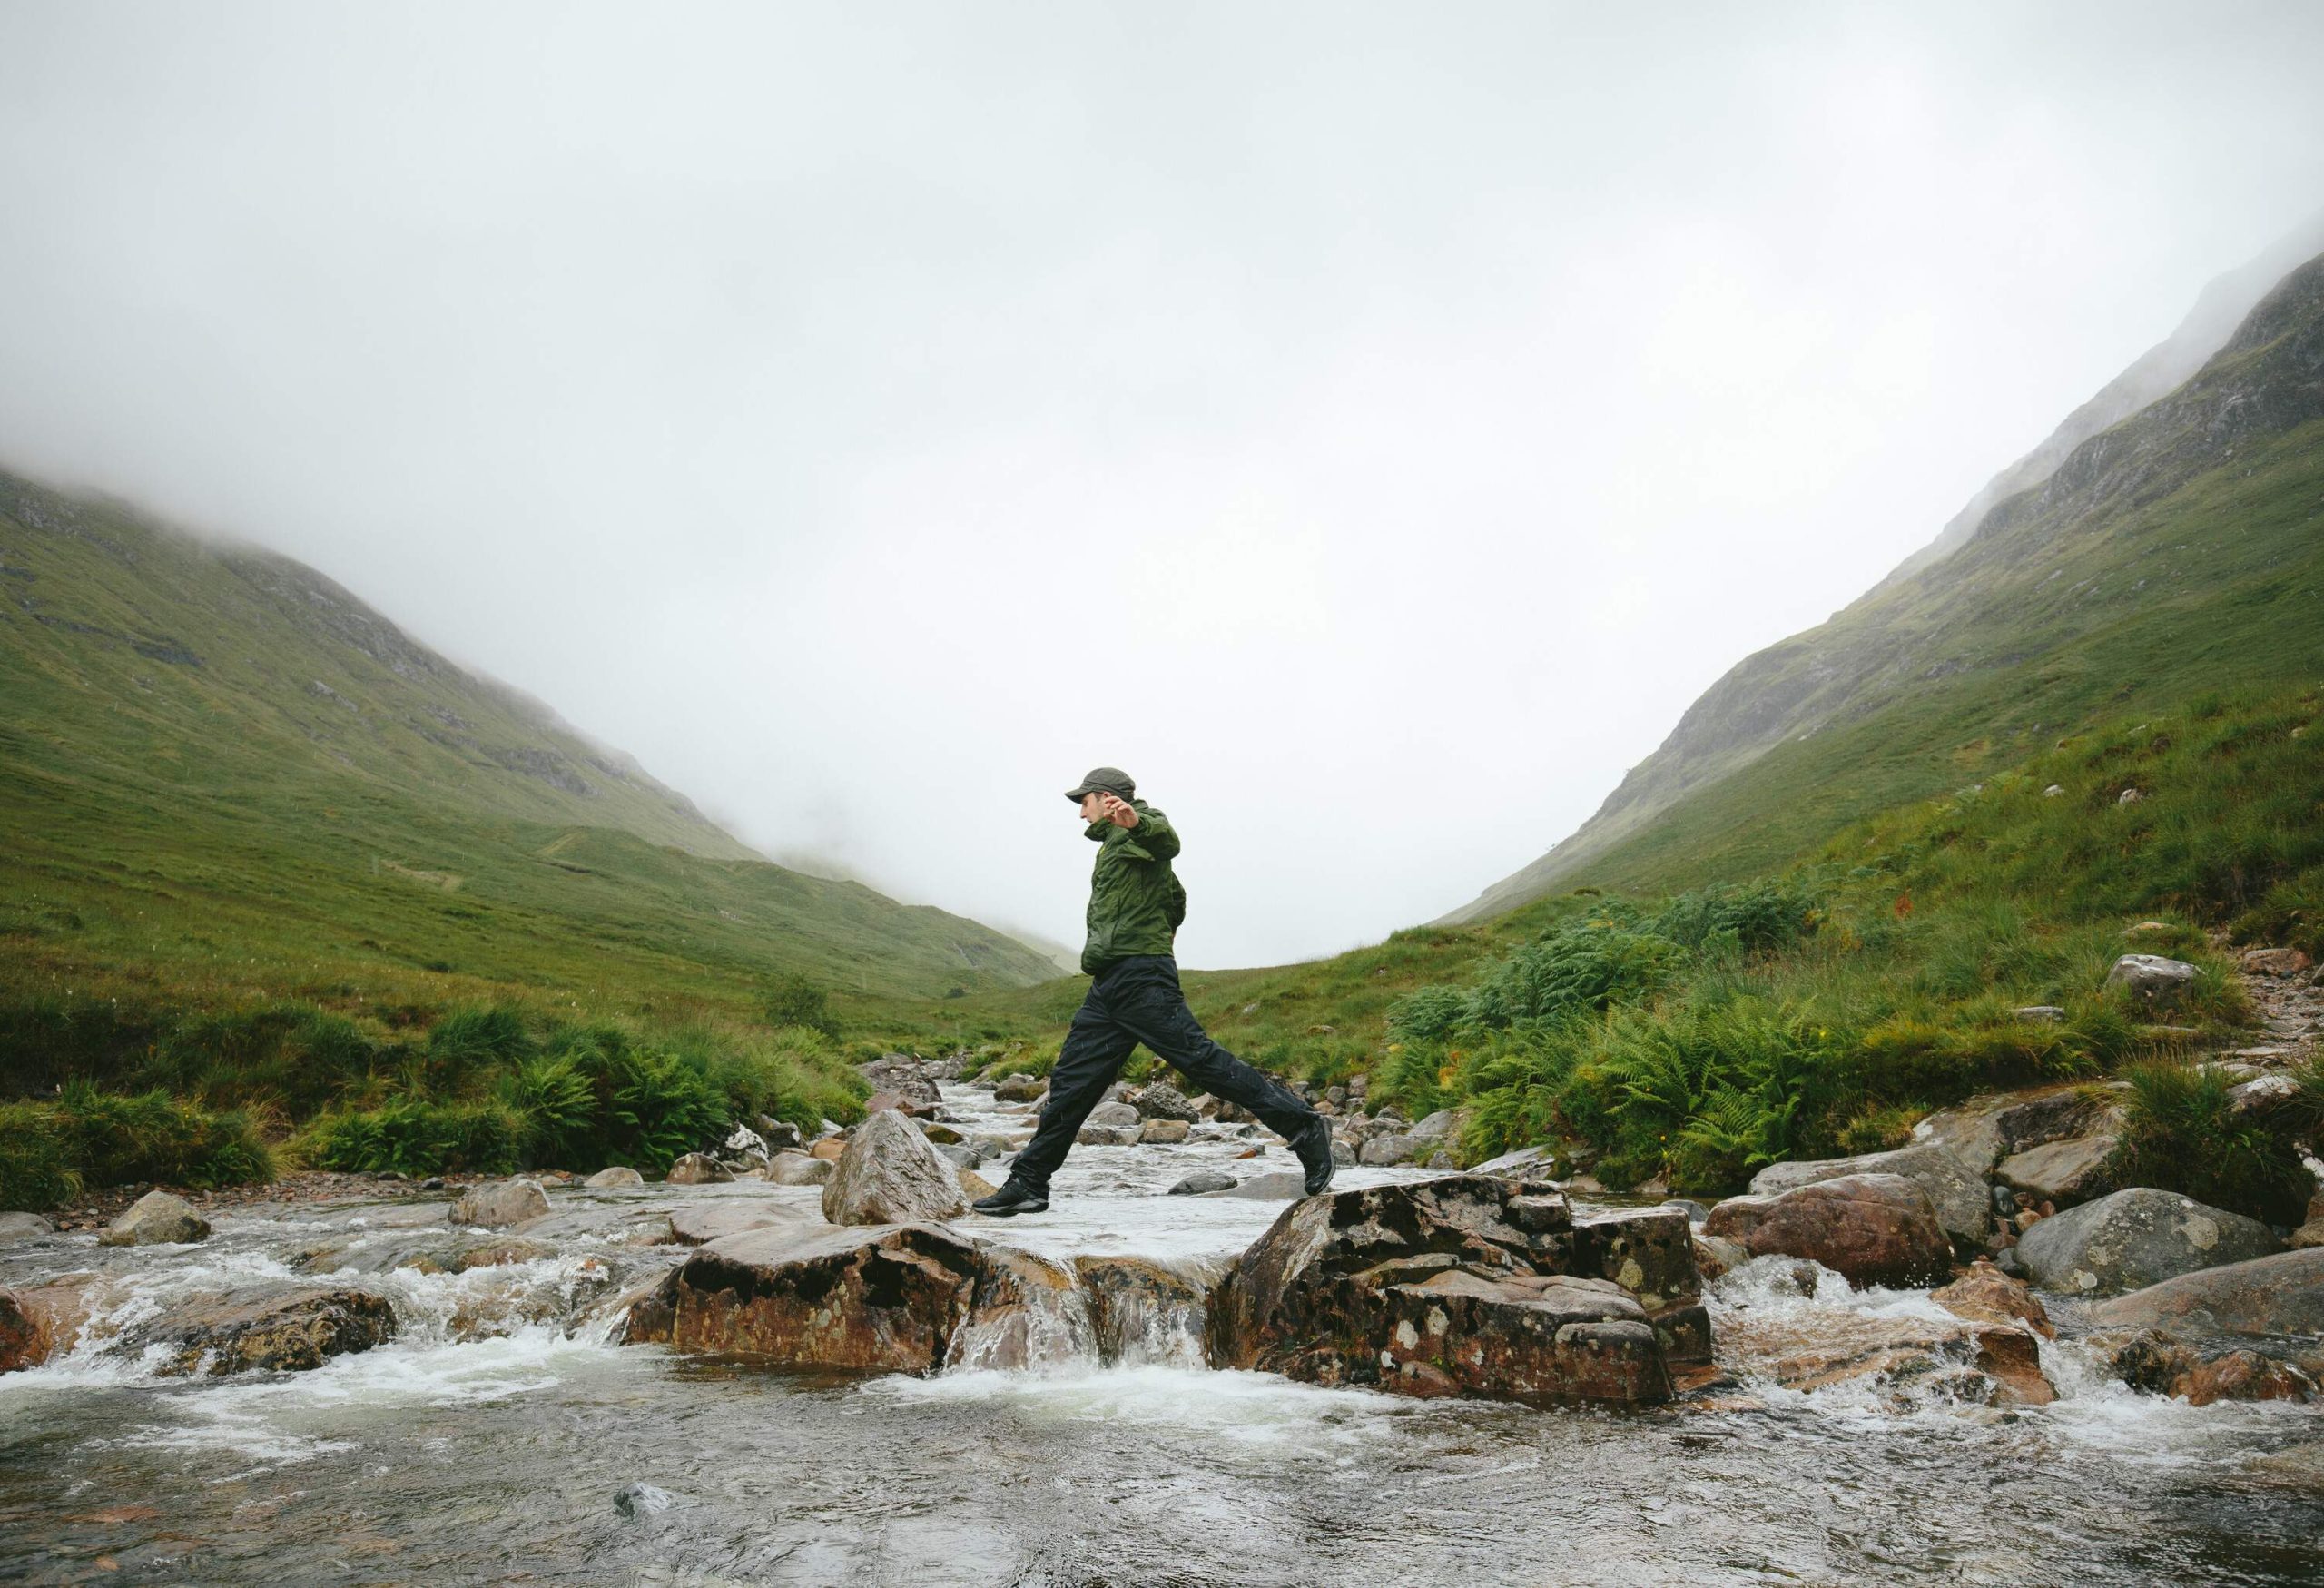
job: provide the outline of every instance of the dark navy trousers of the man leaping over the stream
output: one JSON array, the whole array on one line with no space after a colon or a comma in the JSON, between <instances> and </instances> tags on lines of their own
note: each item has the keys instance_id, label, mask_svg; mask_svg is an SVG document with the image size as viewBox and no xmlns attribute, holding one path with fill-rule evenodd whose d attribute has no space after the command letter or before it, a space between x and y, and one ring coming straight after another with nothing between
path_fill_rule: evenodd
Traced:
<instances>
[{"instance_id":1,"label":"dark navy trousers of the man leaping over the stream","mask_svg":"<svg viewBox=\"0 0 2324 1588\"><path fill-rule=\"evenodd\" d=\"M1048 1176L1074 1149L1090 1109L1122 1074L1129 1049L1146 1049L1195 1083L1195 1090L1250 1109L1269 1130L1292 1137L1315 1109L1264 1070L1253 1070L1211 1042L1178 990L1178 960L1167 953L1132 953L1113 960L1090 981L1090 995L1074 1011L1074 1025L1048 1072L1041 1128L1009 1165L1009 1179L1048 1193Z\"/></svg>"}]
</instances>

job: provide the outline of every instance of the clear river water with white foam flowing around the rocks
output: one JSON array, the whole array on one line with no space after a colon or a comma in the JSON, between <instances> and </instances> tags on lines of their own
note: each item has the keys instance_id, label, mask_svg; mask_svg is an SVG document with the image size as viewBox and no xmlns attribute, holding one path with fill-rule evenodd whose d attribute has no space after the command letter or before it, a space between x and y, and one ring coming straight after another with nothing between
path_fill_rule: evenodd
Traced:
<instances>
[{"instance_id":1,"label":"clear river water with white foam flowing around the rocks","mask_svg":"<svg viewBox=\"0 0 2324 1588\"><path fill-rule=\"evenodd\" d=\"M967 1130L1023 1128L946 1088ZM1164 1197L1246 1139L1078 1149L1048 1218L964 1221L1050 1256L1202 1269L1281 1202ZM1343 1183L1411 1169L1343 1172ZM0 1283L98 1272L112 1349L0 1376L0 1579L30 1583L2319 1583L2324 1414L2140 1397L2045 1349L2054 1407L1780 1390L1648 1414L1529 1411L1206 1372L1162 1328L937 1379L818 1379L607 1344L683 1256L693 1202L755 1181L555 1193L551 1249L397 1267L444 1202L253 1207L202 1246L0 1251ZM1759 1265L1755 1265L1759 1267ZM304 1374L158 1379L123 1351L172 1295L281 1281L388 1295L388 1346ZM1845 1330L1917 1293L1799 1297L1743 1269L1717 1323ZM1745 1328L1748 1325L1748 1328Z\"/></svg>"}]
</instances>

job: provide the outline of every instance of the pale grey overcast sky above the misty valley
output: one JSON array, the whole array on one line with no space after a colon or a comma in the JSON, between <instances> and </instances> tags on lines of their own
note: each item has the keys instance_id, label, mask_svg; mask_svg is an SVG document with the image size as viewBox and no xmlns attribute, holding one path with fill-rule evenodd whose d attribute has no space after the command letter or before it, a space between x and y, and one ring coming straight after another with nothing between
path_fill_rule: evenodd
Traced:
<instances>
[{"instance_id":1,"label":"pale grey overcast sky above the misty valley","mask_svg":"<svg viewBox=\"0 0 2324 1588\"><path fill-rule=\"evenodd\" d=\"M1571 832L2324 202L2324 7L0 0L0 458L1188 965Z\"/></svg>"}]
</instances>

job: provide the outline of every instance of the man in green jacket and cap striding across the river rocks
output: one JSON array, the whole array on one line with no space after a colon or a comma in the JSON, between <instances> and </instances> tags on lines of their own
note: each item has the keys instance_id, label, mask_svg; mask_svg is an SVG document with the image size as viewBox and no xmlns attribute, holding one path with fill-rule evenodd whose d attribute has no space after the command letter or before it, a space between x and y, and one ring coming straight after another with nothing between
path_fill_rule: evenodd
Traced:
<instances>
[{"instance_id":1,"label":"man in green jacket and cap striding across the river rocks","mask_svg":"<svg viewBox=\"0 0 2324 1588\"><path fill-rule=\"evenodd\" d=\"M1085 837L1097 842L1090 874L1088 942L1081 967L1090 995L1048 1074L1041 1128L1009 1165L1009 1183L974 1202L978 1214L1048 1211L1048 1176L1081 1135L1081 1123L1122 1072L1129 1049L1146 1044L1162 1063L1213 1097L1250 1109L1281 1135L1306 1169L1306 1190L1332 1183L1332 1125L1274 1076L1211 1042L1178 990L1171 946L1185 921L1185 888L1171 872L1178 832L1120 767L1097 767L1078 788Z\"/></svg>"}]
</instances>

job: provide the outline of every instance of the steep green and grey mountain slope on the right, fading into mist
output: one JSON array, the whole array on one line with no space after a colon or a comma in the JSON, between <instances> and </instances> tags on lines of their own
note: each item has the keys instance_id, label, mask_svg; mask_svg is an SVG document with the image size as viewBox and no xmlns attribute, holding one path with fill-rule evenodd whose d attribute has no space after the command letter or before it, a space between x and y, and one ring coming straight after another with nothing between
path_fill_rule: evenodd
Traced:
<instances>
[{"instance_id":1,"label":"steep green and grey mountain slope on the right, fading into mist","mask_svg":"<svg viewBox=\"0 0 2324 1588\"><path fill-rule=\"evenodd\" d=\"M2117 386L2129 402L2152 379ZM2068 428L2087 430L2087 409ZM1734 667L1573 837L1446 921L1578 881L1759 874L2101 711L2315 679L2319 512L2324 258L2192 379L2064 449L1971 535L1948 528L1954 549Z\"/></svg>"}]
</instances>

